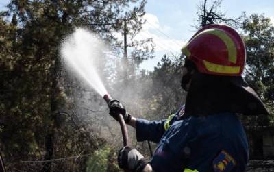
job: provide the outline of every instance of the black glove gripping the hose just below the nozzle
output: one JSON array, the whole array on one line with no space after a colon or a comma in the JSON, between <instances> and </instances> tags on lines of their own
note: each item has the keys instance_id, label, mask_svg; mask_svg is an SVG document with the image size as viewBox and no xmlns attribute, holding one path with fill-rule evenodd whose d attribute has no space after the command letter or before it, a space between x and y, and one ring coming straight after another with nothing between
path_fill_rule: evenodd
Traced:
<instances>
[{"instance_id":1,"label":"black glove gripping the hose just below the nozzle","mask_svg":"<svg viewBox=\"0 0 274 172\"><path fill-rule=\"evenodd\" d=\"M132 116L127 113L125 110L125 106L123 106L120 101L112 100L108 103L108 107L110 108L110 116L112 116L116 121L119 121L119 114L122 114L125 123L129 123Z\"/></svg>"}]
</instances>

